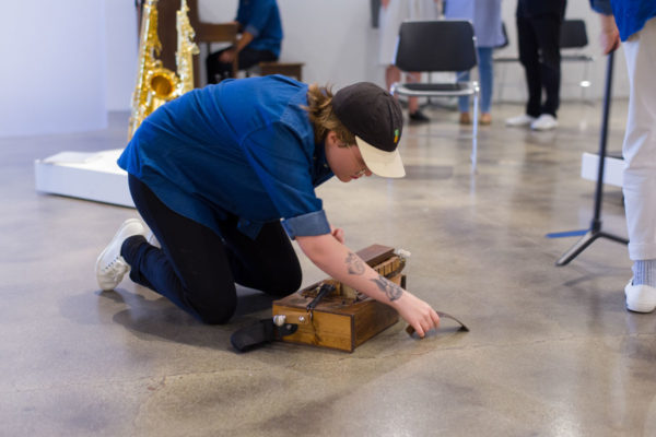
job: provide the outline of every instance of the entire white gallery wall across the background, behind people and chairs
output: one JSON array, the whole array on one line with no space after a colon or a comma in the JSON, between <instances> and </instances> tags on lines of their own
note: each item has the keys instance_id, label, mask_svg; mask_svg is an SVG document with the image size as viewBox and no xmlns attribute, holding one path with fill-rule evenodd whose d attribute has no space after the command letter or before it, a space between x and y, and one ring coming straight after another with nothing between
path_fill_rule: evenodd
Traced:
<instances>
[{"instance_id":1,"label":"entire white gallery wall across the background, behind people and chairs","mask_svg":"<svg viewBox=\"0 0 656 437\"><path fill-rule=\"evenodd\" d=\"M107 110L129 110L137 66L132 0L31 0L5 2L0 26L0 135L102 129ZM340 87L356 81L384 85L377 64L378 34L368 0L279 0L285 39L281 60L305 62L306 82ZM208 22L230 21L237 0L199 0ZM516 54L516 1L504 0L503 17ZM587 0L570 0L567 17L588 25L587 54L598 55L598 19ZM11 17L8 20L7 17ZM25 23L30 23L27 26ZM626 96L623 55L616 57L614 95ZM563 64L562 97L579 98L581 64ZM587 97L602 94L606 61L590 68ZM525 98L519 66L505 71L504 99Z\"/></svg>"}]
</instances>

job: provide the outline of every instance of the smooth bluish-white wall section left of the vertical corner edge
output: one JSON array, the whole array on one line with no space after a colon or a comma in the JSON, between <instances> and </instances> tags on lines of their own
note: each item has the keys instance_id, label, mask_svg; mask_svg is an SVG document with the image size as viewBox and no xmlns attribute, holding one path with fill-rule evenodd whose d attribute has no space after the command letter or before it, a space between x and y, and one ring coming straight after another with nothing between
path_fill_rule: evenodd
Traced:
<instances>
[{"instance_id":1,"label":"smooth bluish-white wall section left of the vertical corner edge","mask_svg":"<svg viewBox=\"0 0 656 437\"><path fill-rule=\"evenodd\" d=\"M103 14L104 0L2 2L1 137L107 126Z\"/></svg>"}]
</instances>

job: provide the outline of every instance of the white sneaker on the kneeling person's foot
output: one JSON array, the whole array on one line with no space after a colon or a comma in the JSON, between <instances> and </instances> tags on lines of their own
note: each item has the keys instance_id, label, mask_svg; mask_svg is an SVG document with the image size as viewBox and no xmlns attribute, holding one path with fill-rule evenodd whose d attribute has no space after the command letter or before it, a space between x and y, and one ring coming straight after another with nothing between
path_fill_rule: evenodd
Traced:
<instances>
[{"instance_id":1,"label":"white sneaker on the kneeling person's foot","mask_svg":"<svg viewBox=\"0 0 656 437\"><path fill-rule=\"evenodd\" d=\"M114 290L120 284L125 274L130 271L130 265L120 256L122 243L132 235L143 235L145 237L147 233L148 227L140 218L128 218L120 225L112 241L96 260L96 280L102 291Z\"/></svg>"}]
</instances>

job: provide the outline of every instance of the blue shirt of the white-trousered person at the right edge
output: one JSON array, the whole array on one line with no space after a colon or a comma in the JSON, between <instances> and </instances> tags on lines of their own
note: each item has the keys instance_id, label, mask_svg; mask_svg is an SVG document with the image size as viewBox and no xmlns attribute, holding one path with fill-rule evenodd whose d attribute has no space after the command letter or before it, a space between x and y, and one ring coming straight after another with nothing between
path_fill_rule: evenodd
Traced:
<instances>
[{"instance_id":1,"label":"blue shirt of the white-trousered person at the right edge","mask_svg":"<svg viewBox=\"0 0 656 437\"><path fill-rule=\"evenodd\" d=\"M656 0L590 0L590 4L597 12L614 15L623 42L656 16Z\"/></svg>"}]
</instances>

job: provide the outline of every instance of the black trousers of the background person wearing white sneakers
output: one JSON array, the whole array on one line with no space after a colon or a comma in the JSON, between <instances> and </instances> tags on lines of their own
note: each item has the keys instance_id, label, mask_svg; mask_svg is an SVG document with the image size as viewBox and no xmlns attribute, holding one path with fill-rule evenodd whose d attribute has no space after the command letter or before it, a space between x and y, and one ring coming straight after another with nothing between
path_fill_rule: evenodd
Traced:
<instances>
[{"instance_id":1,"label":"black trousers of the background person wearing white sneakers","mask_svg":"<svg viewBox=\"0 0 656 437\"><path fill-rule=\"evenodd\" d=\"M555 117L560 105L562 22L559 14L517 16L519 62L524 67L528 87L526 114L531 117L541 114ZM546 94L543 104L542 90Z\"/></svg>"}]
</instances>

